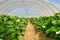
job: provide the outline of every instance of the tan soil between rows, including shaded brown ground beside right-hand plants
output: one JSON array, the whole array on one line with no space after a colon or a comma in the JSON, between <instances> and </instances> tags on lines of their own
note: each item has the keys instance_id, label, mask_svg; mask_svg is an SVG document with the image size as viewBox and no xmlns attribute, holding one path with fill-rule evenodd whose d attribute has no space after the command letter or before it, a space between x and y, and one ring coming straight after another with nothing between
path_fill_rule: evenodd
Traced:
<instances>
[{"instance_id":1,"label":"tan soil between rows, including shaded brown ground beside right-hand plants","mask_svg":"<svg viewBox=\"0 0 60 40\"><path fill-rule=\"evenodd\" d=\"M22 40L52 40L52 39L46 37L46 35L42 31L36 32L34 29L34 25L30 23L30 21L28 21L28 25Z\"/></svg>"}]
</instances>

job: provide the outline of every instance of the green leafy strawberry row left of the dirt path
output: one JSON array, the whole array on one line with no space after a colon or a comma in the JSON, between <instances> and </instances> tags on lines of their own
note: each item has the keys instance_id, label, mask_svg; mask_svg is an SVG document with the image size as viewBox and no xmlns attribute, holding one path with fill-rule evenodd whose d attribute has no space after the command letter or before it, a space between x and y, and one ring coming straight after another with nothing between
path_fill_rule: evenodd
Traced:
<instances>
[{"instance_id":1,"label":"green leafy strawberry row left of the dirt path","mask_svg":"<svg viewBox=\"0 0 60 40\"><path fill-rule=\"evenodd\" d=\"M0 15L0 40L19 40L24 36L27 18Z\"/></svg>"}]
</instances>

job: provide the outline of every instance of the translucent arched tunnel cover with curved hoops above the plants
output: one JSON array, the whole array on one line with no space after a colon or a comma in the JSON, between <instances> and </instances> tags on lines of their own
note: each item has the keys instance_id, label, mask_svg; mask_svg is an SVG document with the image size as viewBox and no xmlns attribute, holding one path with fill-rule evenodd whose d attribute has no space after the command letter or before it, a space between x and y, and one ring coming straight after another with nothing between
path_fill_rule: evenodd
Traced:
<instances>
[{"instance_id":1,"label":"translucent arched tunnel cover with curved hoops above the plants","mask_svg":"<svg viewBox=\"0 0 60 40\"><path fill-rule=\"evenodd\" d=\"M0 1L0 14L6 13L9 15L16 15L18 17L38 17L54 15L56 12L59 12L59 9L44 0Z\"/></svg>"}]
</instances>

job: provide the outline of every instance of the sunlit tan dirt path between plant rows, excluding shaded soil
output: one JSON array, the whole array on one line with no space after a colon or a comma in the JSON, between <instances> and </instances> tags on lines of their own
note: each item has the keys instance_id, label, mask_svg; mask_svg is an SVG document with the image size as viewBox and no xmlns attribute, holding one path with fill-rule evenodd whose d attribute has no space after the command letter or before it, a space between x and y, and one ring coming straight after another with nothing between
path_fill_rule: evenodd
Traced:
<instances>
[{"instance_id":1,"label":"sunlit tan dirt path between plant rows, excluding shaded soil","mask_svg":"<svg viewBox=\"0 0 60 40\"><path fill-rule=\"evenodd\" d=\"M39 36L34 30L34 25L32 25L30 21L28 21L28 26L26 28L24 40L39 40Z\"/></svg>"}]
</instances>

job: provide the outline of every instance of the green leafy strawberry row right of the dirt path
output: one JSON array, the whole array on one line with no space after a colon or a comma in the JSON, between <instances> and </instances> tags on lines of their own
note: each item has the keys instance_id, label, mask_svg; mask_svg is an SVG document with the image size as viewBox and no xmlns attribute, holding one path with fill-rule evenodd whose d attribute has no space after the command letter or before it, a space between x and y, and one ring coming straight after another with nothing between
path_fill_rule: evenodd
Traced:
<instances>
[{"instance_id":1,"label":"green leafy strawberry row right of the dirt path","mask_svg":"<svg viewBox=\"0 0 60 40\"><path fill-rule=\"evenodd\" d=\"M30 18L30 21L37 31L43 31L46 36L52 37L52 40L60 38L60 13L54 16Z\"/></svg>"}]
</instances>

